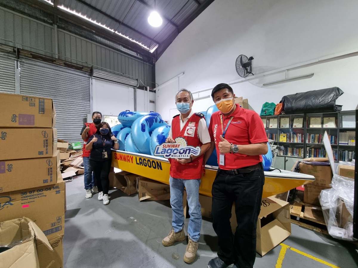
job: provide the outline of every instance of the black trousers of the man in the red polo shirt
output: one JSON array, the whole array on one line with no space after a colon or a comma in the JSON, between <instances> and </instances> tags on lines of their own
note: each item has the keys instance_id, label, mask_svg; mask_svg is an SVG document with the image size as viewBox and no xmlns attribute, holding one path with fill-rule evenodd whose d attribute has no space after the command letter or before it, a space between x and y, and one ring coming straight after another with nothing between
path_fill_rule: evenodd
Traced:
<instances>
[{"instance_id":1,"label":"black trousers of the man in the red polo shirt","mask_svg":"<svg viewBox=\"0 0 358 268\"><path fill-rule=\"evenodd\" d=\"M250 173L227 175L218 171L212 187L213 228L218 236L218 257L226 264L252 268L256 257L256 224L260 214L263 169ZM230 218L235 202L236 232L231 231Z\"/></svg>"}]
</instances>

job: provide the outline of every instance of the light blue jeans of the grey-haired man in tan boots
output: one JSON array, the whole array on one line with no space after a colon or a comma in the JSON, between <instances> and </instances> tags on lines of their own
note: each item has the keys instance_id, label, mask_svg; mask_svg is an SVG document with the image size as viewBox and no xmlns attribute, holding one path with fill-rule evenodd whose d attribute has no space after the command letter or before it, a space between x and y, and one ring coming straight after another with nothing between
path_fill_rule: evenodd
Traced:
<instances>
[{"instance_id":1,"label":"light blue jeans of the grey-haired man in tan boots","mask_svg":"<svg viewBox=\"0 0 358 268\"><path fill-rule=\"evenodd\" d=\"M183 194L184 187L187 191L189 206L188 234L190 239L198 242L201 228L201 205L199 203L200 179L184 180L169 177L170 184L170 205L173 213L172 226L174 232L180 232L184 227Z\"/></svg>"}]
</instances>

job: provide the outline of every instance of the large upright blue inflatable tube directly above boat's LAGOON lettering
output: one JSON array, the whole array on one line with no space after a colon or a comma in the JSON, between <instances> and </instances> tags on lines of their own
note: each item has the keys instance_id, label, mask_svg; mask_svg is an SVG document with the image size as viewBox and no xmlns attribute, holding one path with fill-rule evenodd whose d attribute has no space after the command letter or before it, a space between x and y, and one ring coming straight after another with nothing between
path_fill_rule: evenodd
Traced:
<instances>
[{"instance_id":1,"label":"large upright blue inflatable tube directly above boat's LAGOON lettering","mask_svg":"<svg viewBox=\"0 0 358 268\"><path fill-rule=\"evenodd\" d=\"M150 155L150 135L154 129L164 125L168 124L163 119L153 115L142 116L134 121L131 138L140 153Z\"/></svg>"}]
</instances>

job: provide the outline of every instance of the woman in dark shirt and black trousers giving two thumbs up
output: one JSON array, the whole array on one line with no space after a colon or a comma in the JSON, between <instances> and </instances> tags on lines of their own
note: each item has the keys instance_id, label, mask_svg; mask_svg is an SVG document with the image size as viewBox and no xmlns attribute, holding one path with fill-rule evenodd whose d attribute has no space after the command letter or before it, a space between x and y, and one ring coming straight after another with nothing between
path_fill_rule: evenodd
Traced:
<instances>
[{"instance_id":1,"label":"woman in dark shirt and black trousers giving two thumbs up","mask_svg":"<svg viewBox=\"0 0 358 268\"><path fill-rule=\"evenodd\" d=\"M111 169L112 152L111 148L118 150L119 144L116 137L112 135L111 127L108 123L102 122L97 126L95 135L88 139L86 150L90 150L89 163L95 174L96 185L98 188L98 200L103 200L103 204L110 203L108 199L109 178Z\"/></svg>"}]
</instances>

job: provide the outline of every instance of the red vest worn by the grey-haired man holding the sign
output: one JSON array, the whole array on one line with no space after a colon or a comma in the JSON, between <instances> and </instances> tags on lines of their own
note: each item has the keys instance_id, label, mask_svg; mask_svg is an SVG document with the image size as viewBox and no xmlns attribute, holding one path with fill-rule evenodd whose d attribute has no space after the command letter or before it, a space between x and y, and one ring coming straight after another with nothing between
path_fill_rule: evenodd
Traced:
<instances>
[{"instance_id":1,"label":"red vest worn by the grey-haired man holding the sign","mask_svg":"<svg viewBox=\"0 0 358 268\"><path fill-rule=\"evenodd\" d=\"M176 115L171 123L171 133L173 139L182 137L187 140L187 144L197 147L202 143L198 137L198 124L202 116L193 114L185 123L182 130L180 130L180 116ZM170 176L176 179L200 179L204 170L203 166L204 155L195 158L193 162L180 164L175 159L169 159L170 162Z\"/></svg>"}]
</instances>

